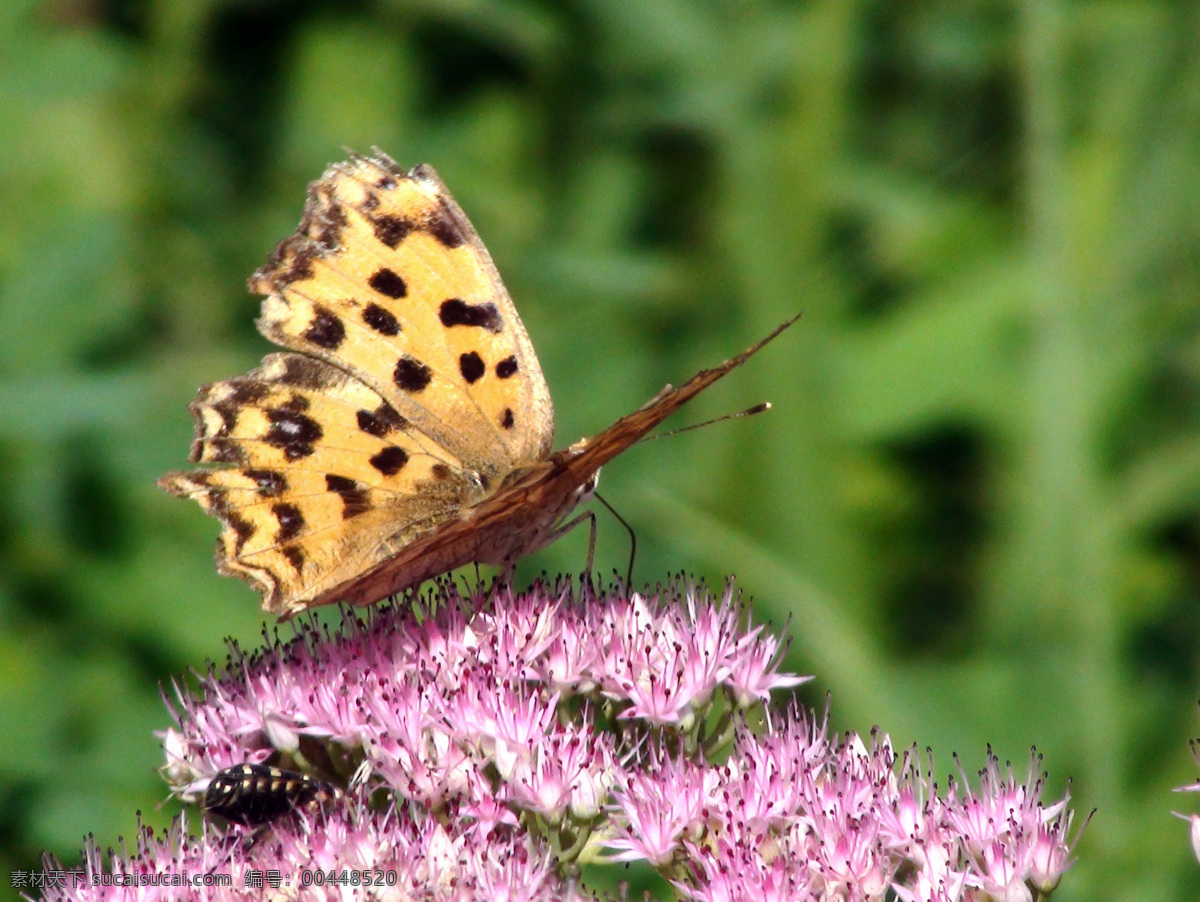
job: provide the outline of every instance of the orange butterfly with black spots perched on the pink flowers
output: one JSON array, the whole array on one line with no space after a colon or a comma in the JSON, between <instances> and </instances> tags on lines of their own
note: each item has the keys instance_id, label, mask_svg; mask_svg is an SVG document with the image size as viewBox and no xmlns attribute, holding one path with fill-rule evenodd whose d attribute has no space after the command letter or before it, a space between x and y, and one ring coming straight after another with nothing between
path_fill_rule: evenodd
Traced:
<instances>
[{"instance_id":1,"label":"orange butterfly with black spots perched on the pink flowers","mask_svg":"<svg viewBox=\"0 0 1200 902\"><path fill-rule=\"evenodd\" d=\"M221 521L217 570L284 618L510 569L575 525L605 463L796 320L552 452L533 344L432 167L330 167L250 288L288 351L199 390L191 461L209 465L158 483Z\"/></svg>"}]
</instances>

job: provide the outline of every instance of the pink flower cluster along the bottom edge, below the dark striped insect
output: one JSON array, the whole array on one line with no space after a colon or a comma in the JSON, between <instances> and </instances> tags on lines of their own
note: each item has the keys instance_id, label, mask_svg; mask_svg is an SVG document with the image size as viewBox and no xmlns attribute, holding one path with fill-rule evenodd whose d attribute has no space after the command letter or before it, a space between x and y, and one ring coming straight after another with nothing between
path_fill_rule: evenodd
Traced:
<instances>
[{"instance_id":1,"label":"pink flower cluster along the bottom edge, below the dark striped insect","mask_svg":"<svg viewBox=\"0 0 1200 902\"><path fill-rule=\"evenodd\" d=\"M455 836L403 808L371 811L348 799L337 811L298 811L278 829L245 834L205 826L187 836L180 818L166 836L145 829L134 849L102 855L90 844L83 867L54 874L44 900L244 902L245 900L590 900L553 872L528 835Z\"/></svg>"}]
</instances>

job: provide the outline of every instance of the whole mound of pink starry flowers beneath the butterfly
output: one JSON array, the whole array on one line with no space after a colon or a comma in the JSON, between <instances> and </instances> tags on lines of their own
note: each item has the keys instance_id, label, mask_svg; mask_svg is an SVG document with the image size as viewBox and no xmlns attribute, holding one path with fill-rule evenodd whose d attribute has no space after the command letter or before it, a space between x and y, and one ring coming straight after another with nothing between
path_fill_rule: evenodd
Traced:
<instances>
[{"instance_id":1,"label":"whole mound of pink starry flowers beneath the butterfly","mask_svg":"<svg viewBox=\"0 0 1200 902\"><path fill-rule=\"evenodd\" d=\"M799 706L746 712L804 681L731 587L652 596L538 584L316 621L176 690L164 774L200 801L214 775L270 762L346 787L257 830L143 836L89 874L203 868L229 888L44 898L584 898L586 864L643 861L688 900L1043 898L1069 866L1066 800L989 756L944 795L887 736L828 735ZM247 841L250 836L250 841ZM166 862L166 864L163 864ZM107 868L107 870L106 870ZM310 883L313 870L394 876ZM254 884L254 885L252 885ZM257 889L256 889L257 886ZM106 891L107 889L107 891ZM127 889L126 889L127 891Z\"/></svg>"}]
</instances>

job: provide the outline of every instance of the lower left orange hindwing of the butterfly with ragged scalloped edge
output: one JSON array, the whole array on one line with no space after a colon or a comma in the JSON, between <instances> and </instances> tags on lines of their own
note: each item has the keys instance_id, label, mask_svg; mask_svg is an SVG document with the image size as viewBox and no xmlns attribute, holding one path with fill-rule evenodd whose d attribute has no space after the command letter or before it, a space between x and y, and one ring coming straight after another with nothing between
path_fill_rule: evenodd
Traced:
<instances>
[{"instance_id":1,"label":"lower left orange hindwing of the butterfly with ragged scalloped edge","mask_svg":"<svg viewBox=\"0 0 1200 902\"><path fill-rule=\"evenodd\" d=\"M192 413L193 462L227 467L162 485L221 519L217 569L276 613L307 607L482 495L445 449L314 357L269 355L202 389Z\"/></svg>"}]
</instances>

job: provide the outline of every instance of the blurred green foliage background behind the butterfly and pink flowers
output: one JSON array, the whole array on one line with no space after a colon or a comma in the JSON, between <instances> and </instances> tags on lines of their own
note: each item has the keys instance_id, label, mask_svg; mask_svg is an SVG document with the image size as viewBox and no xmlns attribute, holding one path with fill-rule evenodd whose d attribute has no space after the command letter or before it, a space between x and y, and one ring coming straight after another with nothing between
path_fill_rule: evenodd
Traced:
<instances>
[{"instance_id":1,"label":"blurred green foliage background behind the butterfly and pink flowers","mask_svg":"<svg viewBox=\"0 0 1200 902\"><path fill-rule=\"evenodd\" d=\"M170 817L158 685L262 615L154 482L378 145L488 243L560 445L803 309L672 425L770 414L606 469L637 577L737 573L942 776L1036 745L1097 808L1056 898L1200 897L1192 0L7 0L0 60L0 892Z\"/></svg>"}]
</instances>

